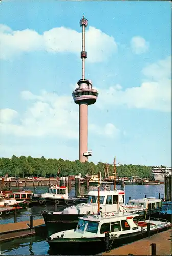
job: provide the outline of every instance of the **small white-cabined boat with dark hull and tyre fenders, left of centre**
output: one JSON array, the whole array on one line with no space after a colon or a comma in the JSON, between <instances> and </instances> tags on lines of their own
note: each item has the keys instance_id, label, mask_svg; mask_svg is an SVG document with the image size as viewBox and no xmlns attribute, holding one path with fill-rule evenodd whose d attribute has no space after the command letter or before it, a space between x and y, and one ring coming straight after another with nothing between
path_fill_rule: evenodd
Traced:
<instances>
[{"instance_id":1,"label":"small white-cabined boat with dark hull and tyre fenders, left of centre","mask_svg":"<svg viewBox=\"0 0 172 256\"><path fill-rule=\"evenodd\" d=\"M87 197L69 197L68 188L66 186L49 184L48 192L41 194L33 194L32 200L37 201L39 205L68 205L87 202Z\"/></svg>"}]
</instances>

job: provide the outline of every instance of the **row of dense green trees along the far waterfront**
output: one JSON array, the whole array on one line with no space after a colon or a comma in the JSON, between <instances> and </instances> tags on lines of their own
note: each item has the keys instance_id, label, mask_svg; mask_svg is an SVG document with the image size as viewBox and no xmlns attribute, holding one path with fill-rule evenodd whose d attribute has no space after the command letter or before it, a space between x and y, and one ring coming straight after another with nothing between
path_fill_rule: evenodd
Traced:
<instances>
[{"instance_id":1,"label":"row of dense green trees along the far waterfront","mask_svg":"<svg viewBox=\"0 0 172 256\"><path fill-rule=\"evenodd\" d=\"M105 165L101 162L94 164L93 162L80 163L79 160L69 161L63 159L46 159L44 156L41 158L33 158L31 156L12 156L9 158L0 158L0 172L1 175L8 174L11 177L61 177L67 175L86 174L94 175L101 171L104 176ZM109 165L109 175L112 176L114 169ZM151 177L152 167L142 165L120 165L116 166L116 174L119 177Z\"/></svg>"}]
</instances>

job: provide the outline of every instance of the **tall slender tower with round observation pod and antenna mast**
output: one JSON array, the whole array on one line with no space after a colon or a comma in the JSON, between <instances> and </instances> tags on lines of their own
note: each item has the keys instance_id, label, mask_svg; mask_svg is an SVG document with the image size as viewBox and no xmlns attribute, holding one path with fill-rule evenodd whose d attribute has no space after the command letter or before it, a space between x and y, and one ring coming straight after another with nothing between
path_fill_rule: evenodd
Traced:
<instances>
[{"instance_id":1,"label":"tall slender tower with round observation pod and antenna mast","mask_svg":"<svg viewBox=\"0 0 172 256\"><path fill-rule=\"evenodd\" d=\"M85 162L88 156L92 155L91 151L87 150L88 141L88 105L96 102L98 91L92 88L92 81L85 79L85 59L87 52L85 51L85 28L88 25L88 20L82 17L80 26L82 27L82 79L78 81L78 86L72 93L74 102L79 105L79 161Z\"/></svg>"}]
</instances>

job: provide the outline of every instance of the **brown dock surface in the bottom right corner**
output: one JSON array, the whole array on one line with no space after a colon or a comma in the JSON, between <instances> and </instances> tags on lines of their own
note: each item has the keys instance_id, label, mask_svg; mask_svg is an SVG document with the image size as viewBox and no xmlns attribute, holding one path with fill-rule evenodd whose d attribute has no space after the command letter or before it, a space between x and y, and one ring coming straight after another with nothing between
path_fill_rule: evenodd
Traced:
<instances>
[{"instance_id":1,"label":"brown dock surface in the bottom right corner","mask_svg":"<svg viewBox=\"0 0 172 256\"><path fill-rule=\"evenodd\" d=\"M149 238L143 238L98 255L151 255L152 243L156 244L156 255L171 255L171 234L172 229L168 229Z\"/></svg>"}]
</instances>

